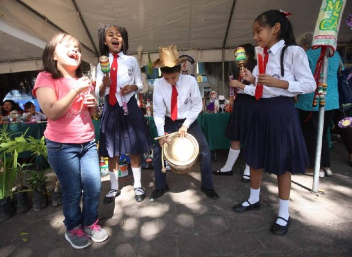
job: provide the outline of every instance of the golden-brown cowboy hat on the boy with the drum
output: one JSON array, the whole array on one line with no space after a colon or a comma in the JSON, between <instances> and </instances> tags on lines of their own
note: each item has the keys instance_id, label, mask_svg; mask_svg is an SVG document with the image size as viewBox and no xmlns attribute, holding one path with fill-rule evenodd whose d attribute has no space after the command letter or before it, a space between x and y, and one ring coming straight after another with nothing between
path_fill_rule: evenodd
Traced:
<instances>
[{"instance_id":1,"label":"golden-brown cowboy hat on the boy with the drum","mask_svg":"<svg viewBox=\"0 0 352 257\"><path fill-rule=\"evenodd\" d=\"M187 58L179 58L175 44L171 46L159 46L159 59L153 62L153 68L174 67L187 61Z\"/></svg>"}]
</instances>

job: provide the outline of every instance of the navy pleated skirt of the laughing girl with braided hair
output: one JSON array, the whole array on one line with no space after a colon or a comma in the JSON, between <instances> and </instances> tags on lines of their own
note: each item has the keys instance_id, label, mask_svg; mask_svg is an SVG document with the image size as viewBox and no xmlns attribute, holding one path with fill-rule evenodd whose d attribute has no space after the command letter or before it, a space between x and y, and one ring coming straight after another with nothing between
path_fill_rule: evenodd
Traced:
<instances>
[{"instance_id":1,"label":"navy pleated skirt of the laughing girl with braided hair","mask_svg":"<svg viewBox=\"0 0 352 257\"><path fill-rule=\"evenodd\" d=\"M128 115L116 103L109 104L109 95L100 121L99 155L103 157L121 154L143 154L152 149L147 123L134 97L127 103Z\"/></svg>"}]
</instances>

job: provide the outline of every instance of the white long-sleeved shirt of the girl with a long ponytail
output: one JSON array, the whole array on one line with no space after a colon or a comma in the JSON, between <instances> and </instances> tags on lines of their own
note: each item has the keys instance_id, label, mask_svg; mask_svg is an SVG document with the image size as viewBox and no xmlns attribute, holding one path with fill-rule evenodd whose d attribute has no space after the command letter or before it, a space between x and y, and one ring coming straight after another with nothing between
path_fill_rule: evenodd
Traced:
<instances>
[{"instance_id":1,"label":"white long-sleeved shirt of the girl with a long ponytail","mask_svg":"<svg viewBox=\"0 0 352 257\"><path fill-rule=\"evenodd\" d=\"M309 62L306 52L299 46L289 46L284 54L283 66L285 74L281 77L280 57L282 48L285 45L284 40L280 40L268 50L269 59L266 65L265 74L269 74L274 78L288 81L288 89L268 87L264 85L263 98L269 97L295 97L298 94L306 94L315 91L316 83L313 74L309 68ZM253 76L258 82L258 65L254 67ZM256 87L246 85L244 92L254 95Z\"/></svg>"}]
</instances>

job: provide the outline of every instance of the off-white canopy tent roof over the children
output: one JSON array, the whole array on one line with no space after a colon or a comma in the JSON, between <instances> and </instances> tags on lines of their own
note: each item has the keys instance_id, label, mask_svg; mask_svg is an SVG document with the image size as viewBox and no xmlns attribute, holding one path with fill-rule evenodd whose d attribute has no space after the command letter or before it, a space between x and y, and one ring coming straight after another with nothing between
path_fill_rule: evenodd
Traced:
<instances>
[{"instance_id":1,"label":"off-white canopy tent roof over the children","mask_svg":"<svg viewBox=\"0 0 352 257\"><path fill-rule=\"evenodd\" d=\"M95 65L100 23L125 26L129 53L147 52L158 58L158 46L175 43L180 54L198 62L233 60L240 44L254 43L252 24L268 9L283 9L295 35L313 31L321 0L0 0L0 73L41 68L45 42L67 32L83 44L83 60ZM347 1L339 42L351 42L345 19L352 13Z\"/></svg>"}]
</instances>

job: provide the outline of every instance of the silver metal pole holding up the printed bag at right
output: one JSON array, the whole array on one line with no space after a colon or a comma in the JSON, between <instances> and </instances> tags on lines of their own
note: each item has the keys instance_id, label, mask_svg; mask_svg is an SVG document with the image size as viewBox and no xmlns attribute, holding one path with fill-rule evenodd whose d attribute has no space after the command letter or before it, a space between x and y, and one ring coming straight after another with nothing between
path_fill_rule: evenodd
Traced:
<instances>
[{"instance_id":1,"label":"silver metal pole holding up the printed bag at right","mask_svg":"<svg viewBox=\"0 0 352 257\"><path fill-rule=\"evenodd\" d=\"M323 84L326 84L328 76L328 64L329 64L329 49L326 50L323 64ZM324 113L325 106L319 107L319 117L318 117L318 134L316 139L316 151L315 151L315 165L314 165L314 177L313 177L313 189L314 193L318 192L319 183L319 170L320 170L320 160L321 160L321 145L323 141L323 125L324 125Z\"/></svg>"}]
</instances>

